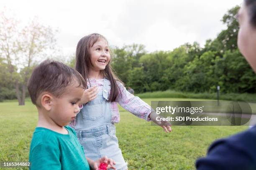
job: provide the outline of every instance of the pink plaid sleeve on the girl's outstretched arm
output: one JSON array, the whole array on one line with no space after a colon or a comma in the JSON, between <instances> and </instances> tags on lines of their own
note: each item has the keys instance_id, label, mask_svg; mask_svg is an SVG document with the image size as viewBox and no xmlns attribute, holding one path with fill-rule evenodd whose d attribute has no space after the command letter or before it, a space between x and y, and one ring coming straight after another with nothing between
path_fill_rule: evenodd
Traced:
<instances>
[{"instance_id":1,"label":"pink plaid sleeve on the girl's outstretched arm","mask_svg":"<svg viewBox=\"0 0 256 170\"><path fill-rule=\"evenodd\" d=\"M150 121L148 115L153 111L151 107L140 99L138 96L132 95L126 90L122 83L117 81L120 91L118 91L117 102L127 111L141 119Z\"/></svg>"}]
</instances>

